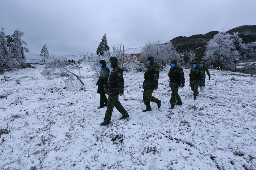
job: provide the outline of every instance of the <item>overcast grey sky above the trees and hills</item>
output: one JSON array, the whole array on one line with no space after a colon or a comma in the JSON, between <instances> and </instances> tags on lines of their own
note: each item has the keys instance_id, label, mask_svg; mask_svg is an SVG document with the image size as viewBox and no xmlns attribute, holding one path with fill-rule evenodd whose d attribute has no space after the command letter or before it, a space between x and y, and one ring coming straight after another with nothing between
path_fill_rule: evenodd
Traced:
<instances>
[{"instance_id":1,"label":"overcast grey sky above the trees and hills","mask_svg":"<svg viewBox=\"0 0 256 170\"><path fill-rule=\"evenodd\" d=\"M109 46L128 49L256 25L255 8L256 0L0 0L0 27L24 32L31 53L46 44L50 54L76 55L96 53L104 33Z\"/></svg>"}]
</instances>

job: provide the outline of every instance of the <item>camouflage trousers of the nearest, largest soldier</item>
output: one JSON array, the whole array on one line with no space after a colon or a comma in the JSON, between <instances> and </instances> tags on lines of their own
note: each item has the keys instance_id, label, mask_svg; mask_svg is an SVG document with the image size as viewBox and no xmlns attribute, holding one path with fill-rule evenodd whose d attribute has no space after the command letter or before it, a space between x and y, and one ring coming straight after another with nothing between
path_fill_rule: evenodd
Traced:
<instances>
[{"instance_id":1,"label":"camouflage trousers of the nearest, largest soldier","mask_svg":"<svg viewBox=\"0 0 256 170\"><path fill-rule=\"evenodd\" d=\"M127 111L124 109L124 107L118 101L118 94L109 95L108 96L108 102L107 102L107 110L106 110L105 117L104 117L105 122L110 122L114 106L123 115L123 117L128 117L129 116Z\"/></svg>"}]
</instances>

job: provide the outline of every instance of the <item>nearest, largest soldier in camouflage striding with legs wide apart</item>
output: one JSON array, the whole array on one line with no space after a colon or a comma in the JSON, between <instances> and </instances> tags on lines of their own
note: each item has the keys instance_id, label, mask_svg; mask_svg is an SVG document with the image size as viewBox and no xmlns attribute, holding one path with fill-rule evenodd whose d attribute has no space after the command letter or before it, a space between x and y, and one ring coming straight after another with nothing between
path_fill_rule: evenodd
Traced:
<instances>
[{"instance_id":1,"label":"nearest, largest soldier in camouflage striding with legs wide apart","mask_svg":"<svg viewBox=\"0 0 256 170\"><path fill-rule=\"evenodd\" d=\"M116 57L110 57L109 60L112 61L111 64L113 70L109 75L108 84L106 86L108 89L107 110L105 113L104 122L102 122L100 125L108 125L110 123L114 106L122 114L121 118L129 117L127 111L118 101L118 95L120 93L124 93L124 78L122 69L118 66Z\"/></svg>"}]
</instances>

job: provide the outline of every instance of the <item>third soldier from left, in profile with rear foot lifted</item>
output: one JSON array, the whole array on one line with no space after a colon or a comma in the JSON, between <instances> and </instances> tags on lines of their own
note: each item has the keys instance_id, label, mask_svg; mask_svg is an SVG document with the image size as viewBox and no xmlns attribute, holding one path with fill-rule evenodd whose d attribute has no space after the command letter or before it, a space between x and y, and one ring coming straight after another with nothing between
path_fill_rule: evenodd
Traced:
<instances>
[{"instance_id":1,"label":"third soldier from left, in profile with rear foot lifted","mask_svg":"<svg viewBox=\"0 0 256 170\"><path fill-rule=\"evenodd\" d=\"M150 56L147 58L148 70L144 73L144 82L142 88L143 92L143 102L146 105L146 109L143 111L150 111L150 102L157 104L158 109L161 107L161 100L158 100L152 93L154 90L158 89L158 79L159 79L159 68L154 64L154 57Z\"/></svg>"}]
</instances>

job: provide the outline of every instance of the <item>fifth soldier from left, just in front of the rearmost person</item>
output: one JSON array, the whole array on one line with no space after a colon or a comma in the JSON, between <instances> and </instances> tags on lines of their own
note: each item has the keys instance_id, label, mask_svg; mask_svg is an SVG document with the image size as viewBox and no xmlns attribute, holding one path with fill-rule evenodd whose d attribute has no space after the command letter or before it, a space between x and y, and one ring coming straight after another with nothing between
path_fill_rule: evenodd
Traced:
<instances>
[{"instance_id":1,"label":"fifth soldier from left, just in front of the rearmost person","mask_svg":"<svg viewBox=\"0 0 256 170\"><path fill-rule=\"evenodd\" d=\"M196 100L196 96L198 95L198 86L203 82L203 74L202 69L198 67L198 62L194 61L193 64L196 64L196 68L192 68L189 73L189 82L191 90L194 92L194 100Z\"/></svg>"}]
</instances>

